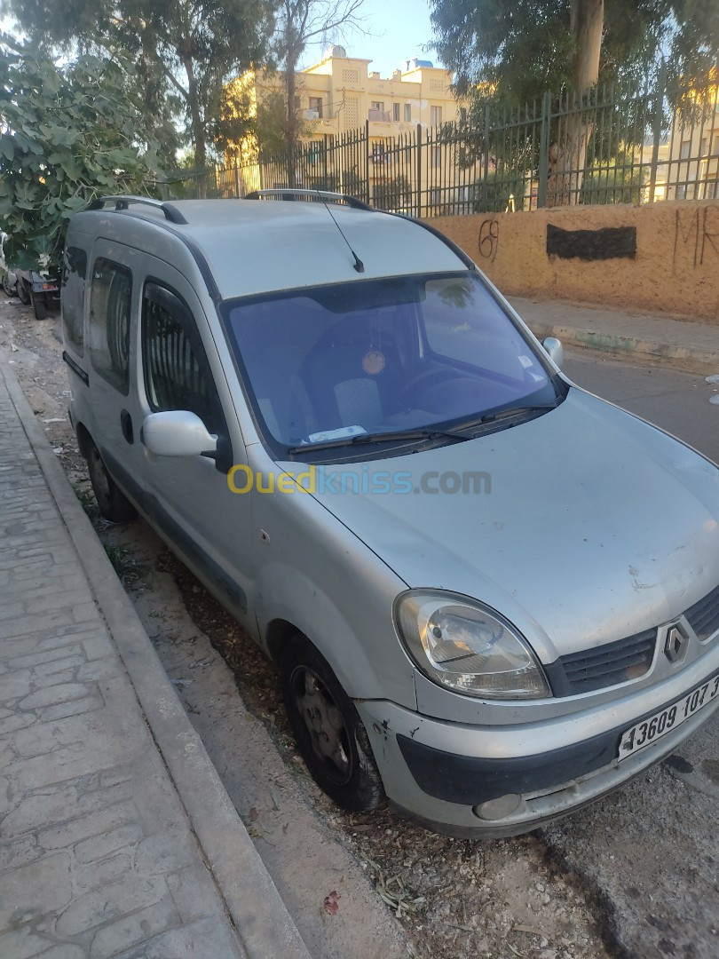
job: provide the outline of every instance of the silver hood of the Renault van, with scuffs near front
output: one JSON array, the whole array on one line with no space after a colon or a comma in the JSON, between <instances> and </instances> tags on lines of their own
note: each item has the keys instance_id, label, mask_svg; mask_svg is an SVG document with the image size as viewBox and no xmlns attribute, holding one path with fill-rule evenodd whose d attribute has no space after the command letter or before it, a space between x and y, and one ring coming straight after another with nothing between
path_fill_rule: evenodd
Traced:
<instances>
[{"instance_id":1,"label":"silver hood of the Renault van, with scuffs near front","mask_svg":"<svg viewBox=\"0 0 719 959\"><path fill-rule=\"evenodd\" d=\"M576 387L498 433L324 470L356 474L348 489L399 474L405 493L314 496L407 586L487 603L546 663L672 620L719 583L719 470ZM423 474L470 471L482 491L422 491Z\"/></svg>"}]
</instances>

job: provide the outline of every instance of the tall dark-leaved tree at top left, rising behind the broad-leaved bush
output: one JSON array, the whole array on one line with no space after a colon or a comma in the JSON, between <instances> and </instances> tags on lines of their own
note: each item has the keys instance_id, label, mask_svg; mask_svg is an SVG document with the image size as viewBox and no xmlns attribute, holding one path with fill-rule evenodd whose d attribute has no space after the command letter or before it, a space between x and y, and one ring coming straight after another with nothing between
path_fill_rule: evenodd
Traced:
<instances>
[{"instance_id":1,"label":"tall dark-leaved tree at top left, rising behind the broad-leaved bush","mask_svg":"<svg viewBox=\"0 0 719 959\"><path fill-rule=\"evenodd\" d=\"M7 9L50 46L127 52L148 114L167 132L179 107L199 167L227 118L226 82L264 57L273 24L272 0L7 0Z\"/></svg>"}]
</instances>

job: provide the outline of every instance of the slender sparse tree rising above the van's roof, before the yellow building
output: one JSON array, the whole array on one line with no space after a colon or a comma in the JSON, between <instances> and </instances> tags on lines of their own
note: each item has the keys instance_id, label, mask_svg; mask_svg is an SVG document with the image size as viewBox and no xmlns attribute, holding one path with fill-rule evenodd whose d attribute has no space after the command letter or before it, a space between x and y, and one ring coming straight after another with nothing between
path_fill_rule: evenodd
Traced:
<instances>
[{"instance_id":1,"label":"slender sparse tree rising above the van's roof, before the yellow building","mask_svg":"<svg viewBox=\"0 0 719 959\"><path fill-rule=\"evenodd\" d=\"M294 152L302 120L297 103L297 64L307 44L317 37L347 28L362 29L359 8L364 0L280 0L273 50L283 71L285 120L283 134L288 151L288 185L295 185Z\"/></svg>"}]
</instances>

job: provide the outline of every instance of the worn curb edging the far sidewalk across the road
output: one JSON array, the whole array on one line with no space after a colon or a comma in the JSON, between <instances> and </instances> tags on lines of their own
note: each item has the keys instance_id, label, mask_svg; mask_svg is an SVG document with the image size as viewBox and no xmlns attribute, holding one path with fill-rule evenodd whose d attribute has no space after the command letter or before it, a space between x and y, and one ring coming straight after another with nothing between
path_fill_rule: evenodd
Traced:
<instances>
[{"instance_id":1,"label":"worn curb edging the far sidewalk across the road","mask_svg":"<svg viewBox=\"0 0 719 959\"><path fill-rule=\"evenodd\" d=\"M582 327L563 326L561 323L543 323L524 317L537 339L557 337L566 346L578 346L596 353L611 353L619 360L636 360L638 363L661 363L687 373L719 372L719 350L701 346L678 346L660 343L651 339L623 337L614 333L601 333Z\"/></svg>"}]
</instances>

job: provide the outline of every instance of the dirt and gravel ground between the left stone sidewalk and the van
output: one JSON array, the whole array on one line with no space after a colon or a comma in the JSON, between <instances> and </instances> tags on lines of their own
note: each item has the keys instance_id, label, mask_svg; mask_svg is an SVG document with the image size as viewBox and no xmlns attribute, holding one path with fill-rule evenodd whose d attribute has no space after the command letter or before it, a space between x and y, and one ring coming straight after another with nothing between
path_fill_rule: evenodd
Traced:
<instances>
[{"instance_id":1,"label":"dirt and gravel ground between the left stone sidewalk and the van","mask_svg":"<svg viewBox=\"0 0 719 959\"><path fill-rule=\"evenodd\" d=\"M680 916L670 902L657 900L658 851L643 849L651 840L636 829L628 830L626 842L616 833L616 819L621 822L631 795L618 807L610 797L592 807L596 811L550 830L482 843L419 829L388 808L359 816L337 810L296 753L275 670L255 644L146 524L111 526L99 518L67 419L58 317L37 322L29 308L0 294L0 356L12 363L313 955L708 959L717 954L710 919L716 902L715 832L710 839L707 833L701 861L686 847L693 856L691 881L707 900L692 904L687 879ZM664 796L685 788L669 767L651 776L661 781ZM646 784L630 788L643 802ZM647 794L655 792L656 782ZM591 825L602 817L606 845L599 848ZM620 867L625 874L618 875ZM678 875L685 873L684 865L677 869ZM667 877L672 875L670 868ZM336 912L356 910L358 920L383 903L376 928L363 920L365 940L357 939L358 929L340 934L333 928L334 893ZM700 941L693 943L697 924Z\"/></svg>"}]
</instances>

